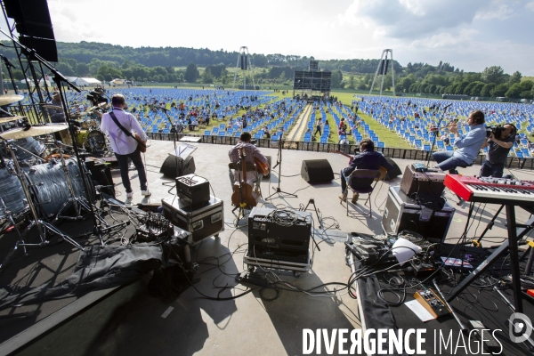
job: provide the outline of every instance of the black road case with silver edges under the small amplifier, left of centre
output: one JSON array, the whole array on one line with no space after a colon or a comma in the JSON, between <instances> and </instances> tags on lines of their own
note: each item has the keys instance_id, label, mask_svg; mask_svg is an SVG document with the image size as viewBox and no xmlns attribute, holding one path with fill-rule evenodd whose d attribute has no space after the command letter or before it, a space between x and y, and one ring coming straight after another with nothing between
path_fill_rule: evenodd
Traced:
<instances>
[{"instance_id":1,"label":"black road case with silver edges under the small amplifier, left of centre","mask_svg":"<svg viewBox=\"0 0 534 356\"><path fill-rule=\"evenodd\" d=\"M188 237L190 245L218 236L219 232L224 231L224 206L221 199L210 197L206 206L195 209L181 198L168 197L161 199L161 206L167 220L191 233Z\"/></svg>"}]
</instances>

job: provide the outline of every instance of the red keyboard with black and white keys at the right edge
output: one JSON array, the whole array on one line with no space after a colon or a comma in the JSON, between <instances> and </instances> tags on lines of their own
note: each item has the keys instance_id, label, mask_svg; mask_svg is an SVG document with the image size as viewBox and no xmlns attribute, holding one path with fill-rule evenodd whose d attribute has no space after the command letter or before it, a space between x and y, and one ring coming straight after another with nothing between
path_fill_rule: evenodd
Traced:
<instances>
[{"instance_id":1,"label":"red keyboard with black and white keys at the right edge","mask_svg":"<svg viewBox=\"0 0 534 356\"><path fill-rule=\"evenodd\" d=\"M444 184L465 201L534 206L534 182L447 174Z\"/></svg>"}]
</instances>

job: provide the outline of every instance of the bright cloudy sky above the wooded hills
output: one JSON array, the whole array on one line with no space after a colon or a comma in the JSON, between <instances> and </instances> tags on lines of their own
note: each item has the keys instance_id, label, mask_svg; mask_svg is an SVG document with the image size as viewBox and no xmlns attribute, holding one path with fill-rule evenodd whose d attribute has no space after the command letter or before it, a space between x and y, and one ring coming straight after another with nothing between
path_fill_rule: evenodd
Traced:
<instances>
[{"instance_id":1,"label":"bright cloudy sky above the wooded hills","mask_svg":"<svg viewBox=\"0 0 534 356\"><path fill-rule=\"evenodd\" d=\"M534 76L534 0L48 0L56 39L316 59L492 65Z\"/></svg>"}]
</instances>

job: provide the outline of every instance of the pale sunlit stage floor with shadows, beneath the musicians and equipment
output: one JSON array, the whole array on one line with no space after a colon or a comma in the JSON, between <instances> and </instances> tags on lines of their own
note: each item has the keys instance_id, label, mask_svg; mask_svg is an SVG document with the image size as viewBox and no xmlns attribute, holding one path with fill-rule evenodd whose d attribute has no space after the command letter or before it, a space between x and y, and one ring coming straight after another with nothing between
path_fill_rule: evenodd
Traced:
<instances>
[{"instance_id":1,"label":"pale sunlit stage floor with shadows, beneath the musicians and equipment","mask_svg":"<svg viewBox=\"0 0 534 356\"><path fill-rule=\"evenodd\" d=\"M196 174L206 177L211 183L217 198L223 199L225 231L219 238L206 239L193 251L193 260L199 263L197 277L200 279L195 287L204 295L230 297L242 293L245 288L228 289L235 285L233 275L243 271L243 254L247 248L247 227L235 228L235 216L231 213L231 184L228 176L228 150L230 146L190 143L198 146L193 153ZM169 152L173 151L173 142L151 142L146 153L146 166L149 177L150 198L142 199L136 172L130 172L134 188L133 204L157 203L162 198L174 196L174 190L164 182L173 182L159 174ZM272 158L273 165L277 161L278 150L262 149L263 154ZM390 182L378 184L373 194L373 216L361 214L358 217L347 217L345 206L340 205L339 171L347 166L348 159L334 153L318 153L296 150L283 150L281 177L278 167L271 174L270 181L263 180L263 197L271 195L280 183L280 189L287 193L295 193L298 198L285 198L283 194L275 194L271 200L260 200L260 206L293 208L306 206L314 199L324 219L326 231L319 230L319 222L315 212L316 239L320 242L320 251L313 256L312 271L303 273L296 279L290 272L282 272L280 279L294 283L301 288L310 288L329 282L346 282L351 275L350 268L344 261L344 236L346 232L383 233L381 218L389 185L399 185L401 177ZM300 176L303 159L328 159L336 179L332 182L309 184ZM412 161L395 159L404 172L405 166ZM477 174L479 166L464 169L463 174ZM514 170L520 179L531 179L531 172ZM112 173L114 182L120 183L118 171ZM279 179L281 181L279 182ZM457 206L457 198L446 190L449 203L457 211L449 228L449 243L456 243L465 229L467 207ZM125 200L122 184L117 185L117 199ZM365 198L364 198L365 199ZM368 206L359 205L350 209L368 212ZM310 206L311 207L311 206ZM469 238L478 234L490 222L498 206L487 205L481 214L481 223L473 223ZM529 214L517 209L517 222L526 222ZM240 222L241 224L244 221ZM506 216L501 214L492 231L494 243L497 244L506 236ZM78 231L81 226L69 226L64 223L65 231ZM2 239L0 258L4 258L4 248L9 241ZM96 243L94 238L80 241L85 246ZM483 244L486 246L486 244ZM20 258L4 273L0 279L2 285L18 284L38 286L44 282L57 283L67 278L77 261L77 250L66 242L54 247L30 250L28 259ZM223 266L223 267L218 267ZM226 274L225 274L226 273ZM20 349L20 354L58 354L58 355L89 355L89 354L143 354L159 352L161 354L301 354L303 352L303 328L360 328L357 301L349 295L336 297L311 296L303 293L283 291L278 299L265 302L256 290L230 301L214 301L201 297L198 291L190 287L177 298L162 301L151 297L147 291L150 276L129 286L113 290L109 296L93 295L93 305L85 310L74 312L73 316L59 327L53 328L44 336L37 337L33 342ZM322 289L321 289L322 288ZM319 290L324 290L321 287ZM242 290L241 290L242 289ZM111 292L111 291L110 291ZM99 299L101 298L101 299ZM79 299L79 298L78 298ZM31 319L0 320L0 333L4 344L3 350L12 350L12 337L19 332L44 321L46 317L69 306L75 299L66 299L12 308L0 312L6 315L15 312L36 312ZM85 305L85 304L84 304ZM82 308L82 304L80 304ZM171 309L172 308L172 309ZM413 326L425 328L425 324ZM16 338L16 337L15 337ZM20 342L20 340L19 340ZM6 348L4 348L6 347ZM336 352L335 352L336 353Z\"/></svg>"}]
</instances>

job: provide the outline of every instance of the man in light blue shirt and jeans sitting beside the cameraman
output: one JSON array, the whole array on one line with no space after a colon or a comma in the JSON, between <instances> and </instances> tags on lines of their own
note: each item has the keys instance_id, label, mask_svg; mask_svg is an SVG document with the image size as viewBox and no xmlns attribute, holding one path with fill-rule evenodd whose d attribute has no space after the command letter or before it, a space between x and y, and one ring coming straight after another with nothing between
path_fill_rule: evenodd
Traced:
<instances>
[{"instance_id":1,"label":"man in light blue shirt and jeans sitting beside the cameraman","mask_svg":"<svg viewBox=\"0 0 534 356\"><path fill-rule=\"evenodd\" d=\"M473 111L467 117L467 125L471 128L467 134L458 134L457 124L449 126L450 133L454 134L454 145L457 150L441 150L433 152L432 156L438 162L436 168L457 174L457 166L469 166L478 157L482 144L486 142L486 128L484 127L484 113Z\"/></svg>"}]
</instances>

